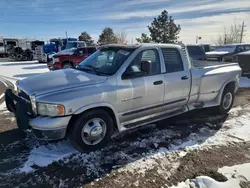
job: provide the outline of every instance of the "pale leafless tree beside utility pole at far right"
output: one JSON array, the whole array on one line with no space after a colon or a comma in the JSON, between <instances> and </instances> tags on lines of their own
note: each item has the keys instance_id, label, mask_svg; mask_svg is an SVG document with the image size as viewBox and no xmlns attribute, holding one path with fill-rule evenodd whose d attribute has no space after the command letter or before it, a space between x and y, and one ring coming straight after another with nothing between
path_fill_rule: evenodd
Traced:
<instances>
[{"instance_id":1,"label":"pale leafless tree beside utility pole at far right","mask_svg":"<svg viewBox=\"0 0 250 188\"><path fill-rule=\"evenodd\" d=\"M223 34L219 35L213 42L216 45L240 43L241 37L244 36L244 32L246 31L242 29L241 25L234 23L229 27L224 27Z\"/></svg>"}]
</instances>

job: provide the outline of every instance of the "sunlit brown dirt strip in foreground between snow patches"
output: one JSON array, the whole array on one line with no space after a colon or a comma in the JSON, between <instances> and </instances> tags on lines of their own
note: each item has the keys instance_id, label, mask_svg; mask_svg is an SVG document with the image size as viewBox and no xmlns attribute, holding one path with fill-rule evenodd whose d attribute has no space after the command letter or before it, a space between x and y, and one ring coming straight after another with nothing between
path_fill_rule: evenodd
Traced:
<instances>
[{"instance_id":1,"label":"sunlit brown dirt strip in foreground between snow patches","mask_svg":"<svg viewBox=\"0 0 250 188\"><path fill-rule=\"evenodd\" d=\"M176 163L175 159L171 162ZM150 187L160 188L177 185L179 182L192 179L197 176L209 176L216 181L225 182L227 178L217 172L223 166L233 166L250 162L250 142L220 146L206 150L193 150L180 159L175 173L167 179L159 175L157 169L147 171L144 177L130 176L124 173L113 173L102 180L91 182L84 187L113 188L113 187ZM166 169L171 171L171 167ZM126 177L127 179L124 179ZM117 181L119 180L119 182ZM127 182L122 185L121 182ZM139 186L138 186L139 184ZM249 188L248 182L242 183ZM243 188L243 187L242 187Z\"/></svg>"}]
</instances>

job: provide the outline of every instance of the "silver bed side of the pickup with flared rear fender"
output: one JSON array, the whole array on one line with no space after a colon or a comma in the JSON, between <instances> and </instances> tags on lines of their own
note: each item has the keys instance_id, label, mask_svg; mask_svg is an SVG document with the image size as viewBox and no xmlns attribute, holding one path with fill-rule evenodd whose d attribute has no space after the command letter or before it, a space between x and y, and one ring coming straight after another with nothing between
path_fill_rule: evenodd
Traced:
<instances>
[{"instance_id":1,"label":"silver bed side of the pickup with flared rear fender","mask_svg":"<svg viewBox=\"0 0 250 188\"><path fill-rule=\"evenodd\" d=\"M238 63L193 61L190 71L192 86L189 102L203 102L206 107L210 104L214 106L216 97L226 82L238 82L241 75Z\"/></svg>"}]
</instances>

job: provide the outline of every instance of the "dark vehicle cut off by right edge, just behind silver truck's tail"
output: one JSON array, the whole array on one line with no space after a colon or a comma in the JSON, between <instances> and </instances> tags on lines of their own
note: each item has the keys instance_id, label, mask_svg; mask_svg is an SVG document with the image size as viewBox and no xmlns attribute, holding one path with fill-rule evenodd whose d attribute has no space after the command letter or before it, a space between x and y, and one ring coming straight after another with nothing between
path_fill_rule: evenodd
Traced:
<instances>
[{"instance_id":1,"label":"dark vehicle cut off by right edge, just behind silver truck's tail","mask_svg":"<svg viewBox=\"0 0 250 188\"><path fill-rule=\"evenodd\" d=\"M238 62L242 69L243 76L250 76L250 51L241 52L234 56L234 61Z\"/></svg>"}]
</instances>

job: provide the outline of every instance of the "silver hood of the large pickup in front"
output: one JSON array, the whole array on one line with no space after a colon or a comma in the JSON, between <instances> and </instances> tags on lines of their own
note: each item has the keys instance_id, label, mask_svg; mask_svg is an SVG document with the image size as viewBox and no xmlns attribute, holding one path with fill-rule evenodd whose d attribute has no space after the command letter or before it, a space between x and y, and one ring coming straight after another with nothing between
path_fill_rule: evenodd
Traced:
<instances>
[{"instance_id":1,"label":"silver hood of the large pickup in front","mask_svg":"<svg viewBox=\"0 0 250 188\"><path fill-rule=\"evenodd\" d=\"M108 77L89 74L76 69L63 69L20 80L17 86L28 95L42 95L64 89L105 82Z\"/></svg>"}]
</instances>

